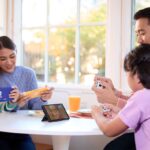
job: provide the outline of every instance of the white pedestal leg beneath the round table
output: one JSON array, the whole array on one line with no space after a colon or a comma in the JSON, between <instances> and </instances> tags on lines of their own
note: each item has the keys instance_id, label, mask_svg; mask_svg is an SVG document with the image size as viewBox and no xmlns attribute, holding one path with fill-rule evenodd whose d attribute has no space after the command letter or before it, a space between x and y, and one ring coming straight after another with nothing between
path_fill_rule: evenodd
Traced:
<instances>
[{"instance_id":1,"label":"white pedestal leg beneath the round table","mask_svg":"<svg viewBox=\"0 0 150 150\"><path fill-rule=\"evenodd\" d=\"M70 136L52 136L53 150L69 150Z\"/></svg>"}]
</instances>

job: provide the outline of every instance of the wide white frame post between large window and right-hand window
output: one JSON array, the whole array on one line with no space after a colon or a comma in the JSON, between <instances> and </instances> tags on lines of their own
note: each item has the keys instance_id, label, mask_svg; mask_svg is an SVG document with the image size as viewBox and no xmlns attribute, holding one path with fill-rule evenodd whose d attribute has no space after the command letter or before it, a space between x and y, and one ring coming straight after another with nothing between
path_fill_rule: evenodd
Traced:
<instances>
[{"instance_id":1,"label":"wide white frame post between large window and right-hand window","mask_svg":"<svg viewBox=\"0 0 150 150\"><path fill-rule=\"evenodd\" d=\"M106 77L112 79L116 88L123 90L128 89L123 60L131 49L131 8L131 0L108 2Z\"/></svg>"}]
</instances>

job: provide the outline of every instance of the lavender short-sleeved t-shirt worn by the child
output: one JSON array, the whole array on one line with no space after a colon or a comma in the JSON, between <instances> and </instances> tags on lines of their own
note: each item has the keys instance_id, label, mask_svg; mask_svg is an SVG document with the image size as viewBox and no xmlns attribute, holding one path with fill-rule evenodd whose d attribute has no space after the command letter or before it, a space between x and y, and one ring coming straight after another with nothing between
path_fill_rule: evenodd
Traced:
<instances>
[{"instance_id":1,"label":"lavender short-sleeved t-shirt worn by the child","mask_svg":"<svg viewBox=\"0 0 150 150\"><path fill-rule=\"evenodd\" d=\"M119 117L129 128L135 129L136 149L150 150L150 90L135 92Z\"/></svg>"}]
</instances>

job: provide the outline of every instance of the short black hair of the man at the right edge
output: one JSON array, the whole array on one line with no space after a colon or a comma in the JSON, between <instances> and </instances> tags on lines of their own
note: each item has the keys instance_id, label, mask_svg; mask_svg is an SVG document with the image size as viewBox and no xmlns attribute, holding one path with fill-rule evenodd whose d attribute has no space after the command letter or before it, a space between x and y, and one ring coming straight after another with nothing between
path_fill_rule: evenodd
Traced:
<instances>
[{"instance_id":1,"label":"short black hair of the man at the right edge","mask_svg":"<svg viewBox=\"0 0 150 150\"><path fill-rule=\"evenodd\" d=\"M150 7L141 9L134 14L134 19L138 20L140 18L147 18L150 23Z\"/></svg>"}]
</instances>

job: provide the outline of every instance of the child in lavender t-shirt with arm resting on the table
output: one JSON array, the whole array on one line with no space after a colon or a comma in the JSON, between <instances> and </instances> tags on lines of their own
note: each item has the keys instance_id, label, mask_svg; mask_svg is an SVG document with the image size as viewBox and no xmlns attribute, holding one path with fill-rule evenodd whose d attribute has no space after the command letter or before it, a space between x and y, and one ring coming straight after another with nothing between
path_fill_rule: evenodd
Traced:
<instances>
[{"instance_id":1,"label":"child in lavender t-shirt with arm resting on the table","mask_svg":"<svg viewBox=\"0 0 150 150\"><path fill-rule=\"evenodd\" d=\"M92 116L107 136L117 136L128 128L135 131L137 150L150 148L150 45L142 44L129 52L124 60L128 84L134 94L116 117L104 121L101 109L92 107Z\"/></svg>"}]
</instances>

